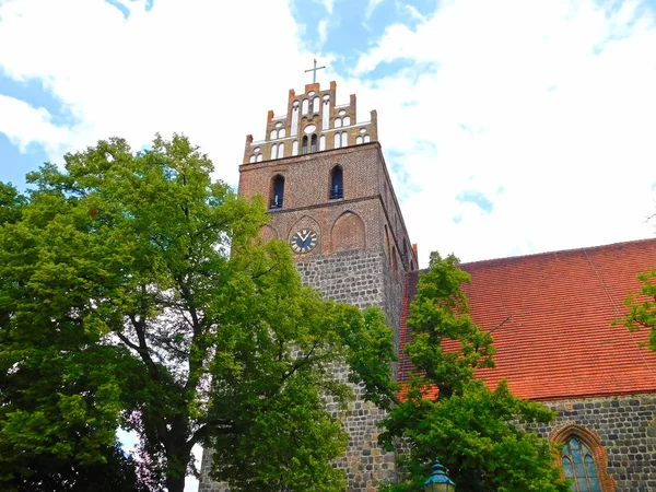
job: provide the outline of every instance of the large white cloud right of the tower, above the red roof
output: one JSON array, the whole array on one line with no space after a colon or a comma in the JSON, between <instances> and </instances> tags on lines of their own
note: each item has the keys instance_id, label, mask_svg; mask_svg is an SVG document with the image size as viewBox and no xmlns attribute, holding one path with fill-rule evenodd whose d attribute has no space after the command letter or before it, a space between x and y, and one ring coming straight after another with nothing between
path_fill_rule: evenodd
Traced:
<instances>
[{"instance_id":1,"label":"large white cloud right of the tower, above the red roof","mask_svg":"<svg viewBox=\"0 0 656 492\"><path fill-rule=\"evenodd\" d=\"M415 28L389 26L348 85L378 109L422 259L653 236L654 52L653 12L635 1L447 1ZM363 81L398 60L411 67Z\"/></svg>"}]
</instances>

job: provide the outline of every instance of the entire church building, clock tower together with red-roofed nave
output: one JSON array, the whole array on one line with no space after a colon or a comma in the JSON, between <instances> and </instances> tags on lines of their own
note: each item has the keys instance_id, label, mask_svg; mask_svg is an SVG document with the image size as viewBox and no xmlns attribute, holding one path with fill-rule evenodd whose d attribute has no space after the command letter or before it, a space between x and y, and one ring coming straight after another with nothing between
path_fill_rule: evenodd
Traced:
<instances>
[{"instance_id":1,"label":"entire church building, clock tower together with red-roofed nave","mask_svg":"<svg viewBox=\"0 0 656 492\"><path fill-rule=\"evenodd\" d=\"M291 90L286 107L283 116L269 112L263 140L246 137L239 196L263 197L271 221L260 235L290 245L306 285L385 311L400 354L391 371L403 380L411 371L402 354L406 319L420 272L378 142L377 114L359 122L355 95L338 105L335 82L324 90L307 84L303 94ZM656 354L639 347L646 332L610 325L624 313L626 294L640 290L636 273L656 268L656 241L461 267L471 274L465 286L471 317L493 330L497 351L496 367L478 375L492 387L507 378L517 396L558 414L535 430L564 444L557 459L575 479L573 490L656 491ZM345 367L336 377L345 380ZM347 412L328 403L350 435L335 465L350 492L374 492L396 480L394 455L377 444L385 413L353 389ZM211 462L204 453L199 490L229 490L209 479Z\"/></svg>"}]
</instances>

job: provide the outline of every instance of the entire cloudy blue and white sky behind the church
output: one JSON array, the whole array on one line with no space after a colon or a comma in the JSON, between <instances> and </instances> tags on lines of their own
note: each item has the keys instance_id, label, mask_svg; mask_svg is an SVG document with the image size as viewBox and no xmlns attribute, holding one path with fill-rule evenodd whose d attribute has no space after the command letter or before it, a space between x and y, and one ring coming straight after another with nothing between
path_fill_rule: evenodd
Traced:
<instances>
[{"instance_id":1,"label":"entire cloudy blue and white sky behind the church","mask_svg":"<svg viewBox=\"0 0 656 492\"><path fill-rule=\"evenodd\" d=\"M0 180L181 132L236 187L314 58L377 109L421 266L654 236L656 0L0 0Z\"/></svg>"}]
</instances>

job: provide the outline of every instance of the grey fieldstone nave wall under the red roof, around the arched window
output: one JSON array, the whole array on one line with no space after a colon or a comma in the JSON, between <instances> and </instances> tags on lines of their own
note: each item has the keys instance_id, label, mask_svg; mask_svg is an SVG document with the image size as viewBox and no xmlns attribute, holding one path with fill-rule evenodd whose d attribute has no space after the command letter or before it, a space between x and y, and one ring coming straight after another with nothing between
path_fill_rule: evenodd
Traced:
<instances>
[{"instance_id":1,"label":"grey fieldstone nave wall under the red roof, around the arched window","mask_svg":"<svg viewBox=\"0 0 656 492\"><path fill-rule=\"evenodd\" d=\"M537 427L550 437L569 423L598 435L608 457L616 492L656 491L656 395L586 398L544 402L558 413Z\"/></svg>"}]
</instances>

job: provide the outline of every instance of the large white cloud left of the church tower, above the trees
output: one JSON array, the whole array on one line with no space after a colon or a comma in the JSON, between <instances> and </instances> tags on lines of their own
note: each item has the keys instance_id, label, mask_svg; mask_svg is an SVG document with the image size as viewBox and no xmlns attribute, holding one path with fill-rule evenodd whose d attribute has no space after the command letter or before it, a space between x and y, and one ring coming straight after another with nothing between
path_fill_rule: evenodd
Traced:
<instances>
[{"instance_id":1,"label":"large white cloud left of the church tower, above the trees","mask_svg":"<svg viewBox=\"0 0 656 492\"><path fill-rule=\"evenodd\" d=\"M150 11L121 3L128 19L103 0L0 3L0 46L12 47L0 50L0 68L43 82L77 119L68 134L24 120L10 137L54 150L112 136L138 148L156 131L185 132L236 184L246 134L263 137L267 109L286 109L313 58L298 48L288 2L244 1L230 14L202 0L157 0Z\"/></svg>"}]
</instances>

